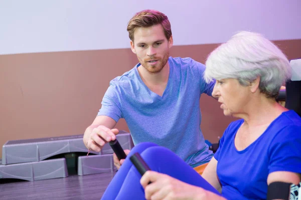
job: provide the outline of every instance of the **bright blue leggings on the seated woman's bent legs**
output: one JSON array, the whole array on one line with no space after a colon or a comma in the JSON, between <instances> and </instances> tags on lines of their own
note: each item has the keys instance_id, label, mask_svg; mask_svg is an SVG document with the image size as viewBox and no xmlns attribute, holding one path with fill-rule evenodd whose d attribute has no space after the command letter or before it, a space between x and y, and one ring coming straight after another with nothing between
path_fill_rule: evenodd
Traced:
<instances>
[{"instance_id":1,"label":"bright blue leggings on the seated woman's bent legs","mask_svg":"<svg viewBox=\"0 0 301 200\"><path fill-rule=\"evenodd\" d=\"M101 199L145 199L144 189L140 184L141 175L129 159L135 152L140 153L150 169L220 195L197 171L170 149L152 142L143 142L137 144L127 155Z\"/></svg>"}]
</instances>

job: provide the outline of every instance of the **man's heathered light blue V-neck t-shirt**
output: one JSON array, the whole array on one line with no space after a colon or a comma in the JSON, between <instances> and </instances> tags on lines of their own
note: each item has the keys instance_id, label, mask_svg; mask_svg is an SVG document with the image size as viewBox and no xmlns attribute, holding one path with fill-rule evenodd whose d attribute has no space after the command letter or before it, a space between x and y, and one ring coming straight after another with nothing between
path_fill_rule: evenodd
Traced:
<instances>
[{"instance_id":1,"label":"man's heathered light blue V-neck t-shirt","mask_svg":"<svg viewBox=\"0 0 301 200\"><path fill-rule=\"evenodd\" d=\"M211 96L215 82L205 82L205 65L192 58L169 57L168 62L162 96L144 84L137 70L143 66L138 63L110 81L98 115L115 121L124 118L134 144L150 141L165 146L194 167L213 156L200 129L200 96Z\"/></svg>"}]
</instances>

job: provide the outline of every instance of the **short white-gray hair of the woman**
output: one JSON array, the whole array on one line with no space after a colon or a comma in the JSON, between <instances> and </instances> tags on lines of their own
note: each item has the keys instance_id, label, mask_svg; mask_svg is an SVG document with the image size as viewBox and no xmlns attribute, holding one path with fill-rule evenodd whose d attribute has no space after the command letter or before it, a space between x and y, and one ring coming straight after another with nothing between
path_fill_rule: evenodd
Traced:
<instances>
[{"instance_id":1,"label":"short white-gray hair of the woman","mask_svg":"<svg viewBox=\"0 0 301 200\"><path fill-rule=\"evenodd\" d=\"M248 31L238 32L212 51L204 72L206 82L235 78L242 85L249 85L258 76L260 91L276 98L280 86L291 77L291 67L275 44Z\"/></svg>"}]
</instances>

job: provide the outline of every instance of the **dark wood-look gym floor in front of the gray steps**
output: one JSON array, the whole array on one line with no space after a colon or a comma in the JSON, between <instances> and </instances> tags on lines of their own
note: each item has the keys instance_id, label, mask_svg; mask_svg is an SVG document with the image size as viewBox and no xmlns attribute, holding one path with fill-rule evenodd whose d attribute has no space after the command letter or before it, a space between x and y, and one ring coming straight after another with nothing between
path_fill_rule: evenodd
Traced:
<instances>
[{"instance_id":1,"label":"dark wood-look gym floor in front of the gray steps","mask_svg":"<svg viewBox=\"0 0 301 200\"><path fill-rule=\"evenodd\" d=\"M36 181L0 182L0 199L100 199L116 172ZM1 179L0 179L1 180Z\"/></svg>"}]
</instances>

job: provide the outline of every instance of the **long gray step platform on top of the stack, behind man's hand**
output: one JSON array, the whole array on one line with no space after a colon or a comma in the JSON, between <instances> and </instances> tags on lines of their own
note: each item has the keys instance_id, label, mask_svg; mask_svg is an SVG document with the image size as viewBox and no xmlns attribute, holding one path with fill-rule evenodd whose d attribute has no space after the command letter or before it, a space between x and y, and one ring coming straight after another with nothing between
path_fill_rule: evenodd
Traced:
<instances>
[{"instance_id":1,"label":"long gray step platform on top of the stack, behind man's hand","mask_svg":"<svg viewBox=\"0 0 301 200\"><path fill-rule=\"evenodd\" d=\"M120 130L116 135L121 145L132 143L130 134ZM127 145L127 144L126 144ZM83 134L48 137L24 140L9 140L2 148L2 164L40 161L54 155L67 152L88 152L83 143ZM91 151L94 154L112 153L109 144L105 144L101 152Z\"/></svg>"}]
</instances>

